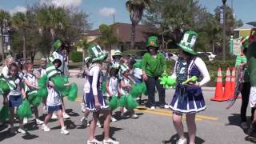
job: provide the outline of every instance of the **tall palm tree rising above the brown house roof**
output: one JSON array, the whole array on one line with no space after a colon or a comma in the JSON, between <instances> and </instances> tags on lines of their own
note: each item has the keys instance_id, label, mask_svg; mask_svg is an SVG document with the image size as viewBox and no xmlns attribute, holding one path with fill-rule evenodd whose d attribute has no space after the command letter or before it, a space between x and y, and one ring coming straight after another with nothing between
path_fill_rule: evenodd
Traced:
<instances>
[{"instance_id":1,"label":"tall palm tree rising above the brown house roof","mask_svg":"<svg viewBox=\"0 0 256 144\"><path fill-rule=\"evenodd\" d=\"M130 13L130 21L131 21L131 48L134 48L135 41L135 28L138 25L138 22L142 20L143 10L145 10L146 6L151 7L150 0L128 0L126 2L126 9Z\"/></svg>"}]
</instances>

